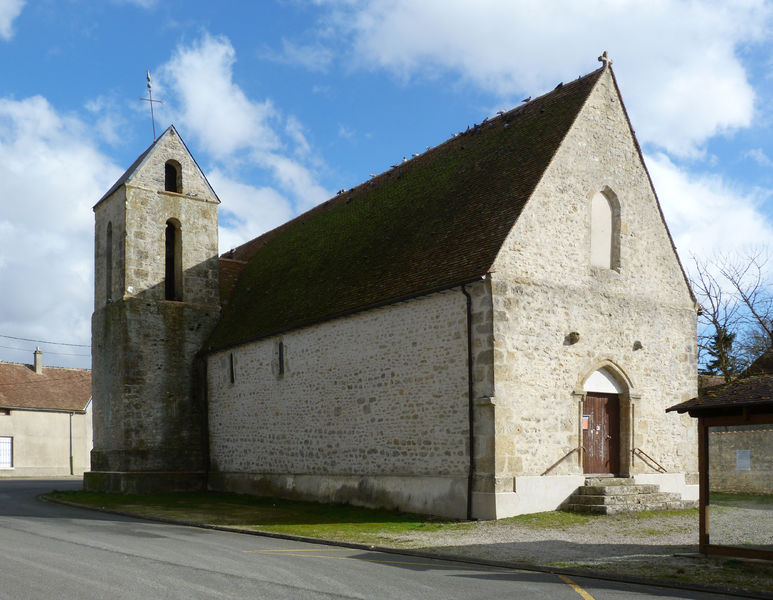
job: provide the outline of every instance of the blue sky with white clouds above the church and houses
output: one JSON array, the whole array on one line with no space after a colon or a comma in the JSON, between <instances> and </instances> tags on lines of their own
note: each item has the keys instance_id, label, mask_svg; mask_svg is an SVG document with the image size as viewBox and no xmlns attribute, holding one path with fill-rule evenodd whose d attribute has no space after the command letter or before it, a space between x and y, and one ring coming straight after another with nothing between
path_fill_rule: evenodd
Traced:
<instances>
[{"instance_id":1,"label":"blue sky with white clouds above the church and houses","mask_svg":"<svg viewBox=\"0 0 773 600\"><path fill-rule=\"evenodd\" d=\"M773 2L0 0L0 360L89 366L91 207L152 142L145 71L221 250L599 66L680 256L770 242Z\"/></svg>"}]
</instances>

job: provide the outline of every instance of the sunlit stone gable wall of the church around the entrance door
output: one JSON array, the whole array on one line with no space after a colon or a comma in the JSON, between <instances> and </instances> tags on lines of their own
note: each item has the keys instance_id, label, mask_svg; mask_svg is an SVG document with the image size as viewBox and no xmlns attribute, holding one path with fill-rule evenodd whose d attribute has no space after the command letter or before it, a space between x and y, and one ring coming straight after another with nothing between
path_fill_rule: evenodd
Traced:
<instances>
[{"instance_id":1,"label":"sunlit stone gable wall of the church around the entrance door","mask_svg":"<svg viewBox=\"0 0 773 600\"><path fill-rule=\"evenodd\" d=\"M620 204L619 271L590 265L599 191ZM694 424L664 412L697 394L695 307L609 72L500 252L492 293L497 491L579 445L583 381L600 366L630 392L623 469L651 472L631 460L632 443L669 472L697 472ZM574 455L551 473L581 472Z\"/></svg>"}]
</instances>

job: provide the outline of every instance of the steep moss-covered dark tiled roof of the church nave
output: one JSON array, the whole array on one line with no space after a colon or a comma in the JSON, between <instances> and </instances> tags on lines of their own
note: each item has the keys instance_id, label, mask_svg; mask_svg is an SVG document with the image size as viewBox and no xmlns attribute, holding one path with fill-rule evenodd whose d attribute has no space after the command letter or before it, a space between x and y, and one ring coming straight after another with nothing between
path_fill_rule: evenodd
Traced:
<instances>
[{"instance_id":1,"label":"steep moss-covered dark tiled roof of the church nave","mask_svg":"<svg viewBox=\"0 0 773 600\"><path fill-rule=\"evenodd\" d=\"M247 264L205 349L488 273L602 72L484 121L224 255Z\"/></svg>"}]
</instances>

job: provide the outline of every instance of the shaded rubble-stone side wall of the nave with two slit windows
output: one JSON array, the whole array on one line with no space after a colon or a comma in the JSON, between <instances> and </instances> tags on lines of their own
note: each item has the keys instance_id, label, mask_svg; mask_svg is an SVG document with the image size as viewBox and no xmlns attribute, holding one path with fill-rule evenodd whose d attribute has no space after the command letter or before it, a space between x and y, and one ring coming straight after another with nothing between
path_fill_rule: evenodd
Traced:
<instances>
[{"instance_id":1,"label":"shaded rubble-stone side wall of the nave with two slit windows","mask_svg":"<svg viewBox=\"0 0 773 600\"><path fill-rule=\"evenodd\" d=\"M466 476L466 361L459 289L213 354L212 469Z\"/></svg>"}]
</instances>

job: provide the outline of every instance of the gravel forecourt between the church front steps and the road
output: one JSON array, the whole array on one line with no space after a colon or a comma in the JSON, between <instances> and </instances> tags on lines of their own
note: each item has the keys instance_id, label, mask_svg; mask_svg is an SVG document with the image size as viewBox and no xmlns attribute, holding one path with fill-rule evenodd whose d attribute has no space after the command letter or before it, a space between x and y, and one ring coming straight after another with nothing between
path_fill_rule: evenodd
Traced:
<instances>
[{"instance_id":1,"label":"gravel forecourt between the church front steps and the road","mask_svg":"<svg viewBox=\"0 0 773 600\"><path fill-rule=\"evenodd\" d=\"M696 510L591 517L585 522L529 524L519 519L476 522L463 530L384 535L383 545L488 560L566 567L589 574L619 574L737 590L773 592L773 563L698 552ZM767 540L773 514L722 508L713 527L724 543ZM773 597L773 596L765 596Z\"/></svg>"}]
</instances>

